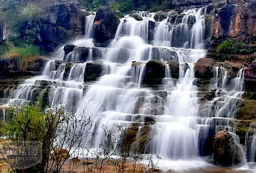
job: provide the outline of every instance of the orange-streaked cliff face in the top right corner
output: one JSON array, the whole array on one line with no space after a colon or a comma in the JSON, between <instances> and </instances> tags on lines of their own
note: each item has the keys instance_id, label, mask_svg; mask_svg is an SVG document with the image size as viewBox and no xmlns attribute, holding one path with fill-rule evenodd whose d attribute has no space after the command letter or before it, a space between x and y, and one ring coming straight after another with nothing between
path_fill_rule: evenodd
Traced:
<instances>
[{"instance_id":1,"label":"orange-streaked cliff face in the top right corner","mask_svg":"<svg viewBox=\"0 0 256 173\"><path fill-rule=\"evenodd\" d=\"M256 1L233 1L223 4L215 13L212 39L233 38L250 43L256 41Z\"/></svg>"}]
</instances>

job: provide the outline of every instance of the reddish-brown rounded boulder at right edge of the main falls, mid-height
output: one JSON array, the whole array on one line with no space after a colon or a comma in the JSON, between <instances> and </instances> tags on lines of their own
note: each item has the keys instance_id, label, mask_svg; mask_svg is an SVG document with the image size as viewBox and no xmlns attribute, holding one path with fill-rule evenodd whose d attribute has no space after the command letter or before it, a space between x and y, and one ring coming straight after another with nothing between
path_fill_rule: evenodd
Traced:
<instances>
[{"instance_id":1,"label":"reddish-brown rounded boulder at right edge of the main falls, mid-height","mask_svg":"<svg viewBox=\"0 0 256 173\"><path fill-rule=\"evenodd\" d=\"M214 71L215 61L213 59L199 59L194 67L196 78L212 78Z\"/></svg>"}]
</instances>

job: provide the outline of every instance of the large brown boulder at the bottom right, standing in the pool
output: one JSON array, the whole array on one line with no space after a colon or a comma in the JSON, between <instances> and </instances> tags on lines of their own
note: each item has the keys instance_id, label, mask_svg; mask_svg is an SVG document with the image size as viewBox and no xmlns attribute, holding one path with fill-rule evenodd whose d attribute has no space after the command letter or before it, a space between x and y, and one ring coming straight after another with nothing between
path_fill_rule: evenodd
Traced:
<instances>
[{"instance_id":1,"label":"large brown boulder at the bottom right, standing in the pool","mask_svg":"<svg viewBox=\"0 0 256 173\"><path fill-rule=\"evenodd\" d=\"M213 144L213 159L222 166L241 163L241 150L235 144L233 135L228 131L217 132Z\"/></svg>"}]
</instances>

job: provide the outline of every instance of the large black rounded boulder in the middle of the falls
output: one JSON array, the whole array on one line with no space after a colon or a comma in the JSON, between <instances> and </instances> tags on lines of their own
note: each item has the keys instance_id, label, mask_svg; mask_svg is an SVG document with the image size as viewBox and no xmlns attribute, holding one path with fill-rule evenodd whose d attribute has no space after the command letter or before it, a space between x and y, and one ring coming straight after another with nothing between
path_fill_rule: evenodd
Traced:
<instances>
[{"instance_id":1,"label":"large black rounded boulder in the middle of the falls","mask_svg":"<svg viewBox=\"0 0 256 173\"><path fill-rule=\"evenodd\" d=\"M165 63L159 60L151 60L147 62L144 75L143 83L146 85L159 85L162 79L165 77Z\"/></svg>"}]
</instances>

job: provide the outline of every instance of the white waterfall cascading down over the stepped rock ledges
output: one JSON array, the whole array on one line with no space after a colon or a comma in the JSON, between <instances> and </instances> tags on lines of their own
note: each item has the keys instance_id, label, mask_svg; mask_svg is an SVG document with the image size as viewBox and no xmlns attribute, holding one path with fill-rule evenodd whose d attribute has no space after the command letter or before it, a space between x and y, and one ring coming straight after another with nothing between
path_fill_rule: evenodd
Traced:
<instances>
[{"instance_id":1,"label":"white waterfall cascading down over the stepped rock ledges","mask_svg":"<svg viewBox=\"0 0 256 173\"><path fill-rule=\"evenodd\" d=\"M97 134L89 139L92 150L105 140L102 126L115 133L118 128L136 124L139 127L133 150L141 147L140 138L147 134L142 150L144 154L157 154L163 158L160 166L168 165L178 170L186 166L205 166L207 164L198 158L204 155L203 150L207 142L211 143L211 136L217 130L234 132L235 126L232 122L229 124L229 118L235 118L235 103L243 92L243 69L234 80L234 88L225 90L227 73L223 67L216 68L214 87L217 88L217 98L209 104L214 110L205 111L207 115L201 116L194 65L205 57L204 10L184 11L181 21L175 19L174 22L170 22L173 21L171 15L155 22L154 13L145 11L138 13L143 21L127 15L121 19L115 39L107 48L94 46L94 15L89 15L85 38L73 42L85 48L75 47L65 57L66 63L49 61L42 76L9 90L8 99L1 99L1 102L22 104L24 100L34 101L33 95L40 90L40 96L47 97L49 106L62 104L67 112L81 114L85 111L91 117L95 123L92 132ZM151 23L156 23L152 41L149 37ZM81 59L81 51L85 49L89 50L89 58ZM101 59L97 63L103 65L103 76L95 83L84 83L85 69L95 54ZM146 63L153 59L164 61L166 66L165 78L159 88L143 85ZM179 61L179 79L171 77L171 69L166 63L171 60ZM222 83L219 83L220 78ZM219 106L215 106L216 102Z\"/></svg>"}]
</instances>

